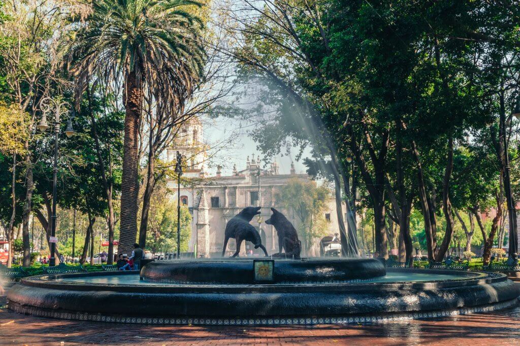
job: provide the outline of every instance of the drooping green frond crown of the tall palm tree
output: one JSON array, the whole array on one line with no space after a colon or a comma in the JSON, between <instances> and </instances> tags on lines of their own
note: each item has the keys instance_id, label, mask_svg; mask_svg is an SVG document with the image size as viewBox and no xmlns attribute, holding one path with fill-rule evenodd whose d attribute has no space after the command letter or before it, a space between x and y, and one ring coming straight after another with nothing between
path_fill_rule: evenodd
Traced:
<instances>
[{"instance_id":1,"label":"drooping green frond crown of the tall palm tree","mask_svg":"<svg viewBox=\"0 0 520 346\"><path fill-rule=\"evenodd\" d=\"M113 73L134 74L139 88L146 84L165 104L176 105L203 72L200 7L192 0L93 2L87 18L75 21L79 30L70 47L74 74L80 84L88 84L95 72L107 82Z\"/></svg>"}]
</instances>

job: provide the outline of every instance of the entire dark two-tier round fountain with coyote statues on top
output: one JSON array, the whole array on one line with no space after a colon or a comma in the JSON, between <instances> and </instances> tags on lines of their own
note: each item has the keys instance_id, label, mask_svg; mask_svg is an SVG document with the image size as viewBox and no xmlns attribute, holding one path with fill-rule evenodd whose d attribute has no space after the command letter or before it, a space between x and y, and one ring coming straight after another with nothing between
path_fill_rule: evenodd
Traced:
<instances>
[{"instance_id":1,"label":"entire dark two-tier round fountain with coyote statues on top","mask_svg":"<svg viewBox=\"0 0 520 346\"><path fill-rule=\"evenodd\" d=\"M266 251L249 224L259 210L247 207L230 220L224 251L228 238L237 244L249 240ZM280 234L285 234L281 227L294 229L282 220ZM300 244L295 237L285 244ZM363 323L501 309L516 305L520 294L503 274L386 269L384 259L374 258L235 258L239 249L233 258L150 262L139 274L22 279L7 296L9 308L61 319L130 323ZM281 251L280 245L278 255Z\"/></svg>"}]
</instances>

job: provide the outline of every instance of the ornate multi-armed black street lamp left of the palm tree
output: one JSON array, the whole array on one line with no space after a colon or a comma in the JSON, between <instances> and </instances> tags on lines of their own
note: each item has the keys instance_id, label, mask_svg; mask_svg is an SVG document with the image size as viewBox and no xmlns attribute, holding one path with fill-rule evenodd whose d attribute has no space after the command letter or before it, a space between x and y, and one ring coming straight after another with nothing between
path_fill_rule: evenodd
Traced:
<instances>
[{"instance_id":1,"label":"ornate multi-armed black street lamp left of the palm tree","mask_svg":"<svg viewBox=\"0 0 520 346\"><path fill-rule=\"evenodd\" d=\"M51 230L50 230L50 237L55 238L56 237L56 200L57 200L57 185L58 185L58 145L59 145L59 133L60 133L60 116L62 112L62 108L70 107L71 109L71 117L69 118L69 121L67 122L67 129L65 133L67 134L67 137L71 137L74 134L74 130L72 129L72 119L74 118L74 108L71 107L71 105L66 102L59 100L51 99L50 97L47 97L42 100L41 102L41 109L42 109L42 120L38 124L38 129L42 132L47 131L50 126L47 124L47 114L50 114L51 112L55 112L55 119L54 119L54 164L53 164L53 215L51 216ZM50 239L49 239L50 241ZM50 258L49 258L49 266L53 267L56 265L56 243L53 242L50 243Z\"/></svg>"}]
</instances>

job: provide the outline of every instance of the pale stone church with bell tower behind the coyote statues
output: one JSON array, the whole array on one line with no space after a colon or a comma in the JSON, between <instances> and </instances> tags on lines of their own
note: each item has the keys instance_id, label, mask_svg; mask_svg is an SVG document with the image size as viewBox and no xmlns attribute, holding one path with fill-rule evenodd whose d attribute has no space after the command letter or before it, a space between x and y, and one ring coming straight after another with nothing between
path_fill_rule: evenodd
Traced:
<instances>
[{"instance_id":1,"label":"pale stone church with bell tower behind the coyote statues","mask_svg":"<svg viewBox=\"0 0 520 346\"><path fill-rule=\"evenodd\" d=\"M276 230L271 225L266 225L264 220L271 215L270 207L275 207L297 228L298 220L291 212L283 210L277 205L276 191L288 184L290 179L309 179L307 174L297 174L294 164L291 164L290 174L280 174L278 163L268 164L263 168L261 160L254 155L248 157L245 168L238 170L233 167L231 175L222 175L222 168L217 167L216 174L209 176L206 173L204 160L206 153L200 148L205 148L201 143L202 126L199 121L193 121L186 127L185 137L168 150L168 158L175 161L175 152L180 151L187 162L184 169L184 177L191 178L193 184L181 185L180 201L187 205L192 215L191 237L189 251L198 257L219 257L222 254L224 243L224 230L229 219L238 214L246 206L262 206L262 214L255 217L251 224L260 228L262 243L267 252L277 253L278 238ZM172 199L177 200L176 181L168 182L172 189ZM329 211L326 212L330 234L337 233L337 218L334 200L328 201ZM345 211L343 211L345 213ZM309 249L308 255L319 253L319 239L313 249ZM230 240L227 246L227 254L235 251L236 243ZM257 252L251 243L243 242L241 255L250 250ZM259 252L258 252L259 253Z\"/></svg>"}]
</instances>

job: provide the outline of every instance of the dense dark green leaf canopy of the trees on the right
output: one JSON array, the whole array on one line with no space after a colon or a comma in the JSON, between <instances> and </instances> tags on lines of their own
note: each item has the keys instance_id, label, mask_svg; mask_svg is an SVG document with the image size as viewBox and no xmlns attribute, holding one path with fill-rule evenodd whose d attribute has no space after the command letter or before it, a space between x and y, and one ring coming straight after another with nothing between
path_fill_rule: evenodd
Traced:
<instances>
[{"instance_id":1,"label":"dense dark green leaf canopy of the trees on the right","mask_svg":"<svg viewBox=\"0 0 520 346\"><path fill-rule=\"evenodd\" d=\"M311 8L260 3L248 7L254 15L245 19L248 29L240 32L243 45L236 57L244 80L265 85L253 109L263 123L253 136L265 154L310 146L314 161L332 155L340 167L355 154L374 209L395 203L389 187L417 196L418 161L432 219L451 220L451 212L443 210L448 202L478 212L496 205L502 154L496 125L486 123L499 114L508 117L520 94L512 67L518 63L514 2L325 0ZM498 30L503 23L508 24ZM514 129L511 125L509 132ZM410 155L412 143L417 161ZM446 175L449 143L455 144L454 163ZM406 153L399 172L398 144ZM397 186L398 175L405 186ZM420 210L418 199L412 202ZM412 216L414 241L424 248L417 216ZM445 236L446 244L463 240L460 228L452 237L446 232L451 222L436 221L433 238L439 245ZM384 228L381 221L378 227ZM384 229L379 231L383 242Z\"/></svg>"}]
</instances>

